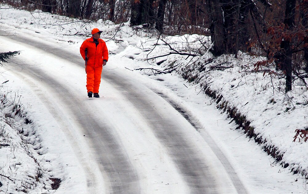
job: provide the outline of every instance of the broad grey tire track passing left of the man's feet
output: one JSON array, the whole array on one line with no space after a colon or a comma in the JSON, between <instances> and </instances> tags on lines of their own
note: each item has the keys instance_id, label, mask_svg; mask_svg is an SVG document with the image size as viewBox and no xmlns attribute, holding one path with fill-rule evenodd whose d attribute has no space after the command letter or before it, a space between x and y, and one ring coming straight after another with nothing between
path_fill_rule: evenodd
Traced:
<instances>
[{"instance_id":1,"label":"broad grey tire track passing left of the man's feet","mask_svg":"<svg viewBox=\"0 0 308 194\"><path fill-rule=\"evenodd\" d=\"M101 124L94 118L84 116L90 111L87 110L86 106L83 106L80 103L80 99L67 98L67 96L64 96L63 91L68 91L68 89L59 84L59 80L53 79L51 76L35 67L24 69L23 73L26 73L37 82L45 83L44 85L45 87L48 87L48 91L55 91L55 93L58 93L59 99L61 99L65 105L70 107L71 113L69 115L75 115L78 118L78 122L83 128L84 134L89 136L88 138L91 139L93 143L92 147L94 147L94 150L97 152L97 160L102 164L100 167L102 167L107 174L107 177L105 178L109 180L110 190L107 189L106 193L140 193L138 175L128 160L127 155L123 152L121 145L111 134L111 131L113 130L112 127L107 125L101 126ZM65 118L65 115L67 115L66 112L58 112L58 110L55 110L52 104L48 102L49 96L47 94L41 98L45 98L44 101L47 103L47 106L49 103L48 107L51 108L51 112L56 117L55 119L59 119L60 126L64 127L63 130L71 131L72 133L72 130L74 129L65 127L67 122L72 118ZM66 108L66 110L68 110L68 108ZM63 119L63 117L65 119ZM78 142L75 142L74 144L77 146ZM80 149L82 150L82 148ZM83 161L83 164L86 163L87 161ZM86 166L86 169L90 170L91 166ZM89 171L90 176L87 177L88 187L90 187L91 190L95 190L95 188L99 187L100 183L91 179L91 176L95 174L91 173L91 171L92 170ZM96 191L95 193L100 192Z\"/></svg>"}]
</instances>

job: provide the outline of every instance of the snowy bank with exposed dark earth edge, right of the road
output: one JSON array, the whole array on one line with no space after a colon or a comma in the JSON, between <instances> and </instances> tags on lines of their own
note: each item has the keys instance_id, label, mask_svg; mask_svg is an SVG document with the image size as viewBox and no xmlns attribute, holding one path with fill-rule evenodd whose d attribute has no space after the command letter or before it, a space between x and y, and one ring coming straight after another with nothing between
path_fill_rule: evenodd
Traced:
<instances>
[{"instance_id":1,"label":"snowy bank with exposed dark earth edge, right of the road","mask_svg":"<svg viewBox=\"0 0 308 194\"><path fill-rule=\"evenodd\" d=\"M238 129L274 157L275 163L307 179L308 142L300 135L294 139L296 130L307 129L307 86L294 82L294 89L285 94L284 77L253 72L256 59L242 53L238 59L213 59L208 54L201 61L192 66L183 62L177 72L200 85L239 125ZM212 70L221 63L227 64Z\"/></svg>"}]
</instances>

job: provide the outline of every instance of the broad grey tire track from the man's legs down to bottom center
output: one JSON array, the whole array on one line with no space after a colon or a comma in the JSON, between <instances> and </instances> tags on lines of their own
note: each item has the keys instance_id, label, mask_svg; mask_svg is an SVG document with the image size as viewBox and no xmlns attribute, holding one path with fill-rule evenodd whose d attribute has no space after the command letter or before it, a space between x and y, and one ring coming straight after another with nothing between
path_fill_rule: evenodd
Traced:
<instances>
[{"instance_id":1,"label":"broad grey tire track from the man's legs down to bottom center","mask_svg":"<svg viewBox=\"0 0 308 194\"><path fill-rule=\"evenodd\" d=\"M119 74L116 76L119 77ZM124 77L115 79L113 74L105 73L104 79L119 87L136 107L142 107L139 108L141 115L144 115L145 120L148 121L149 128L152 129L156 137L168 150L169 156L188 184L190 193L220 193L215 180L217 174L214 174L209 168L208 164L204 161L204 156L198 153L199 150L194 148L194 145L187 140L189 137L182 133L182 130L185 130L183 129L184 126L177 123L179 120L168 118L168 112L164 114L164 110L158 111L155 108L155 103L151 103L159 95L150 99L152 101L148 101L143 98L143 93L140 89L137 92L138 88ZM149 91L144 91L144 93L147 92ZM155 94L153 93L153 95Z\"/></svg>"}]
</instances>

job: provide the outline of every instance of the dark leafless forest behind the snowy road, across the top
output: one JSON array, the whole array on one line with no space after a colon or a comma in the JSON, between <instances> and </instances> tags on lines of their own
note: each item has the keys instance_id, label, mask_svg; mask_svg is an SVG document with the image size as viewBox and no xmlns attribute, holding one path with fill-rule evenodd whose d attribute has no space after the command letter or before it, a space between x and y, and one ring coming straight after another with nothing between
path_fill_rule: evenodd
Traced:
<instances>
[{"instance_id":1,"label":"dark leafless forest behind the snowy road, across the top","mask_svg":"<svg viewBox=\"0 0 308 194\"><path fill-rule=\"evenodd\" d=\"M158 34L210 35L210 46L192 51L214 56L238 51L266 57L255 71L285 76L285 92L294 79L308 77L308 0L2 0L26 10L86 20L155 28ZM179 54L179 51L175 51ZM191 52L191 53L192 53ZM190 55L193 55L191 54ZM265 68L264 68L265 67ZM274 68L273 68L274 67ZM260 69L261 68L261 69Z\"/></svg>"}]
</instances>

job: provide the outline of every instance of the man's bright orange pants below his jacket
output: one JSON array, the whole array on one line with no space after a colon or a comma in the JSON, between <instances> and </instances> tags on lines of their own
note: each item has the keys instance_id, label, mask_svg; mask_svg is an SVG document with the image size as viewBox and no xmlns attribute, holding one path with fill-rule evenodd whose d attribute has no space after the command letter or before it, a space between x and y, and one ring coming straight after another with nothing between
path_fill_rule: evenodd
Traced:
<instances>
[{"instance_id":1,"label":"man's bright orange pants below his jacket","mask_svg":"<svg viewBox=\"0 0 308 194\"><path fill-rule=\"evenodd\" d=\"M103 67L90 67L87 66L87 92L99 92L99 84L102 75Z\"/></svg>"}]
</instances>

